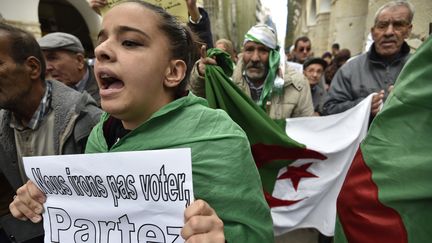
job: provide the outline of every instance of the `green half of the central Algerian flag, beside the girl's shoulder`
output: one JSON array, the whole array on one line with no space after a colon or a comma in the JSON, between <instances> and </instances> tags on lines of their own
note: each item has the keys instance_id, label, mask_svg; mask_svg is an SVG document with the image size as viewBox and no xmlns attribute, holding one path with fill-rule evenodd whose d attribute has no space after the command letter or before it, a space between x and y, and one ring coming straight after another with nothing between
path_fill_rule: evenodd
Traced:
<instances>
[{"instance_id":1,"label":"green half of the central Algerian flag, beside the girl's shoulder","mask_svg":"<svg viewBox=\"0 0 432 243\"><path fill-rule=\"evenodd\" d=\"M232 73L229 55L214 48L207 52L215 57L216 65L207 65L205 70L206 98L209 106L225 110L246 132L252 154L261 175L267 200L272 192L279 169L299 158L324 158L308 150L304 145L289 138L284 129L246 96L226 75ZM291 204L291 201L278 202Z\"/></svg>"}]
</instances>

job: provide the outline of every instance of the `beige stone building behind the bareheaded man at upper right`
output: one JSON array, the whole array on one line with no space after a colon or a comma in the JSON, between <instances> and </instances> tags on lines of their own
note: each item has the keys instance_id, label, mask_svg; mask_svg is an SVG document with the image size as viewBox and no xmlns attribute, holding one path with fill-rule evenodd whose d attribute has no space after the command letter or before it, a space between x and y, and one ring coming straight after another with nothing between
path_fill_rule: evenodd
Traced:
<instances>
[{"instance_id":1,"label":"beige stone building behind the bareheaded man at upper right","mask_svg":"<svg viewBox=\"0 0 432 243\"><path fill-rule=\"evenodd\" d=\"M333 43L348 48L355 55L364 51L375 13L388 0L294 0L297 21L293 39L306 35L312 41L316 56L330 50ZM413 31L408 43L416 49L429 35L432 23L432 1L411 0L415 7ZM289 44L290 42L288 42Z\"/></svg>"}]
</instances>

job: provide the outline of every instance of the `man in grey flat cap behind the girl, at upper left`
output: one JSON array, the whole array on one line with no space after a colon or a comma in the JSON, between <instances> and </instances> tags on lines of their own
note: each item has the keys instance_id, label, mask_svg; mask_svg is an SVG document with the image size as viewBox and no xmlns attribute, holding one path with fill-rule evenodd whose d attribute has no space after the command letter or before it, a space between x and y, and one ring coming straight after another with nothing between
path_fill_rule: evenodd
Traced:
<instances>
[{"instance_id":1,"label":"man in grey flat cap behind the girl, at upper left","mask_svg":"<svg viewBox=\"0 0 432 243\"><path fill-rule=\"evenodd\" d=\"M68 33L54 32L38 40L46 61L46 74L79 92L86 91L100 106L93 69L86 63L81 41Z\"/></svg>"}]
</instances>

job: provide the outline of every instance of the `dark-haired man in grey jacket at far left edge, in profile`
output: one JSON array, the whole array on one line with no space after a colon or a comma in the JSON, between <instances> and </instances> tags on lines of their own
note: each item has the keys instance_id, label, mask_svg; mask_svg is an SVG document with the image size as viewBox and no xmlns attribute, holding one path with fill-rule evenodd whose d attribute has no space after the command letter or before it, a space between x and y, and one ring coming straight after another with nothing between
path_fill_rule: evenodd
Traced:
<instances>
[{"instance_id":1,"label":"dark-haired man in grey jacket at far left edge, in profile","mask_svg":"<svg viewBox=\"0 0 432 243\"><path fill-rule=\"evenodd\" d=\"M101 110L87 93L45 80L34 37L0 23L0 239L43 242L41 218L20 221L8 206L27 182L22 157L83 153Z\"/></svg>"}]
</instances>

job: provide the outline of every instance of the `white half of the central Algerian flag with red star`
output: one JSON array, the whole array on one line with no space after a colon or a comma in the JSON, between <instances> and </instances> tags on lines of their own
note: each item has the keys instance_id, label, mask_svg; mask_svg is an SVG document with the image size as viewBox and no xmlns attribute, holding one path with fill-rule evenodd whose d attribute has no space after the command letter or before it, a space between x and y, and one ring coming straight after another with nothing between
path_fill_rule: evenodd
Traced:
<instances>
[{"instance_id":1,"label":"white half of the central Algerian flag with red star","mask_svg":"<svg viewBox=\"0 0 432 243\"><path fill-rule=\"evenodd\" d=\"M299 159L279 171L273 197L298 203L273 207L276 235L316 228L332 236L336 198L360 142L366 135L372 95L339 114L286 121L286 133L325 159Z\"/></svg>"}]
</instances>

